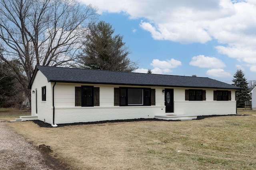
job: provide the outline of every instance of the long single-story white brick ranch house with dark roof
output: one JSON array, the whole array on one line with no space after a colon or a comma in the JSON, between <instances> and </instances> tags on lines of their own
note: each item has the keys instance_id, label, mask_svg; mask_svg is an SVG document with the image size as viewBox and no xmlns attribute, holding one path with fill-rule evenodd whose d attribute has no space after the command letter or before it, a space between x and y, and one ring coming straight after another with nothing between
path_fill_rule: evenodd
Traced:
<instances>
[{"instance_id":1,"label":"long single-story white brick ranch house with dark roof","mask_svg":"<svg viewBox=\"0 0 256 170\"><path fill-rule=\"evenodd\" d=\"M50 124L236 114L239 87L204 77L36 66L31 115Z\"/></svg>"}]
</instances>

